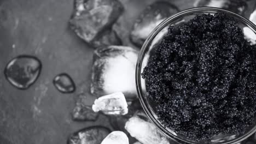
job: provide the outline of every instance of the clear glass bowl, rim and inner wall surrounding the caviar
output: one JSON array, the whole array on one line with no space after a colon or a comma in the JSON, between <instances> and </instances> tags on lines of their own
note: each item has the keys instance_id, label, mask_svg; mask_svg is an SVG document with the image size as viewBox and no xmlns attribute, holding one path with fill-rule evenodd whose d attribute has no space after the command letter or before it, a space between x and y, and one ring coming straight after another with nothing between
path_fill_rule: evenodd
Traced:
<instances>
[{"instance_id":1,"label":"clear glass bowl, rim and inner wall surrounding the caviar","mask_svg":"<svg viewBox=\"0 0 256 144\"><path fill-rule=\"evenodd\" d=\"M196 142L193 140L189 140L186 137L176 134L175 131L172 131L171 129L165 128L164 125L162 125L158 121L158 116L156 116L154 112L154 101L150 100L147 96L147 88L145 85L145 80L142 79L141 73L146 67L148 59L150 57L150 52L154 48L155 45L157 45L162 37L166 34L167 28L170 25L173 25L174 27L178 27L179 25L182 25L183 22L187 22L191 19L193 19L197 14L215 14L215 13L225 13L228 16L234 17L239 23L239 26L244 30L244 33L248 34L247 37L248 40L253 41L250 38L256 38L256 26L249 20L247 20L245 17L242 17L238 14L232 13L228 10L223 10L219 8L211 8L211 7L201 7L201 8L192 8L187 9L184 11L181 11L180 13L173 15L163 22L160 23L148 36L147 40L144 42L141 52L139 53L137 65L136 65L136 87L137 87L137 93L139 100L141 101L141 104L143 106L143 109L146 111L148 117L151 119L151 121L158 127L162 133L170 137L172 140L179 142L179 143L215 143L215 144L228 144L228 143L238 143L243 140L245 140L247 137L255 133L256 131L256 121L255 124L249 128L245 134L243 135L216 135L213 136L210 142ZM254 41L255 42L255 41Z\"/></svg>"}]
</instances>

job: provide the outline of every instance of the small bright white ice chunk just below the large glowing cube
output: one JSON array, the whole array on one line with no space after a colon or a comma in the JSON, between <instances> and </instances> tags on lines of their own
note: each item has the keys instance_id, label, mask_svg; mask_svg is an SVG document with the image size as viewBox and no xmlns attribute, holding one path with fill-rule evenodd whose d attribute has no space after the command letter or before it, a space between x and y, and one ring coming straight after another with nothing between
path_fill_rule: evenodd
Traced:
<instances>
[{"instance_id":1,"label":"small bright white ice chunk just below the large glowing cube","mask_svg":"<svg viewBox=\"0 0 256 144\"><path fill-rule=\"evenodd\" d=\"M128 113L127 106L124 94L116 92L96 99L92 110L102 111L106 115L126 115Z\"/></svg>"}]
</instances>

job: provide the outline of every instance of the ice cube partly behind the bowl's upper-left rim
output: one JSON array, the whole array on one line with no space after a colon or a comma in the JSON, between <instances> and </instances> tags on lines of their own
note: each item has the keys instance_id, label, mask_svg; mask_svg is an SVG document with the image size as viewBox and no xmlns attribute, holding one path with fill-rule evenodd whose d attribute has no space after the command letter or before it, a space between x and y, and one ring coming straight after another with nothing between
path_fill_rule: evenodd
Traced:
<instances>
[{"instance_id":1,"label":"ice cube partly behind the bowl's upper-left rim","mask_svg":"<svg viewBox=\"0 0 256 144\"><path fill-rule=\"evenodd\" d=\"M178 8L168 2L155 2L149 5L137 18L130 38L137 46L142 46L148 35L167 17L178 12Z\"/></svg>"}]
</instances>

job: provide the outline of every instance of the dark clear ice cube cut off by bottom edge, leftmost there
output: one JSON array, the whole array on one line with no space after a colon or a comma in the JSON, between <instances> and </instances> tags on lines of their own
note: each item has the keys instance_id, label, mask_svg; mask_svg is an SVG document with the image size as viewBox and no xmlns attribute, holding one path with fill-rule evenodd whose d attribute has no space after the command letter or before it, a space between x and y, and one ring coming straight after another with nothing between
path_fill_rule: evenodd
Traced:
<instances>
[{"instance_id":1,"label":"dark clear ice cube cut off by bottom edge, leftmost there","mask_svg":"<svg viewBox=\"0 0 256 144\"><path fill-rule=\"evenodd\" d=\"M110 130L102 126L81 129L69 136L68 144L100 144L109 133Z\"/></svg>"}]
</instances>

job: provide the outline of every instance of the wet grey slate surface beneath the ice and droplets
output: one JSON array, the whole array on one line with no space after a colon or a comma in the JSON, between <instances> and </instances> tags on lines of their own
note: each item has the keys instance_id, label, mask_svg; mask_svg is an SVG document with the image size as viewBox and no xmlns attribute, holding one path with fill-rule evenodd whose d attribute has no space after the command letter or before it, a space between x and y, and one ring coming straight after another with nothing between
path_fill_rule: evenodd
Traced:
<instances>
[{"instance_id":1,"label":"wet grey slate surface beneath the ice and droplets","mask_svg":"<svg viewBox=\"0 0 256 144\"><path fill-rule=\"evenodd\" d=\"M154 1L121 1L125 10L114 29L124 45L135 47L129 40L130 29ZM180 10L193 7L193 1L172 2ZM72 10L72 0L0 0L0 143L66 143L74 131L98 124L113 130L104 115L95 122L72 120L75 95L90 90L94 51L68 27ZM11 86L3 73L11 58L24 54L43 64L37 81L26 91ZM57 91L52 80L59 73L72 77L75 93Z\"/></svg>"}]
</instances>

